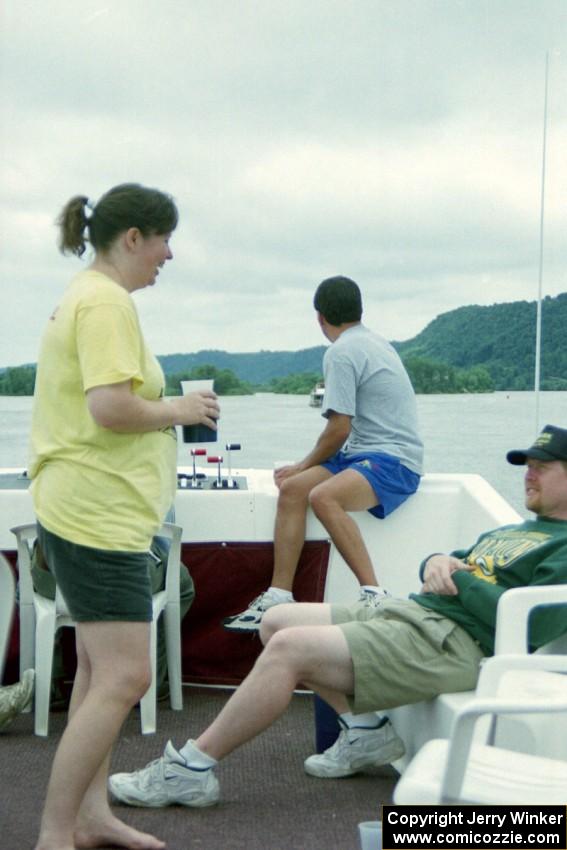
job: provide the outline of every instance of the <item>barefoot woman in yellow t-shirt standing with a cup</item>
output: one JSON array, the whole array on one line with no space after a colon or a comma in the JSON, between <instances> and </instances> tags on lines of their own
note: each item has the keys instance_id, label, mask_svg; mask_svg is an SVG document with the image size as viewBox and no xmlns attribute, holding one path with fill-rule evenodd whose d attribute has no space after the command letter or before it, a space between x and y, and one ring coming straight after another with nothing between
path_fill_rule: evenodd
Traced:
<instances>
[{"instance_id":1,"label":"barefoot woman in yellow t-shirt standing with a cup","mask_svg":"<svg viewBox=\"0 0 567 850\"><path fill-rule=\"evenodd\" d=\"M38 358L31 491L38 538L76 621L77 673L55 755L38 848L164 846L112 813L106 781L122 722L150 682L149 546L173 503L176 425L215 428L212 392L166 401L163 372L131 293L172 259L172 198L123 184L58 220L63 253L90 266L71 281ZM109 663L110 662L110 663Z\"/></svg>"}]
</instances>

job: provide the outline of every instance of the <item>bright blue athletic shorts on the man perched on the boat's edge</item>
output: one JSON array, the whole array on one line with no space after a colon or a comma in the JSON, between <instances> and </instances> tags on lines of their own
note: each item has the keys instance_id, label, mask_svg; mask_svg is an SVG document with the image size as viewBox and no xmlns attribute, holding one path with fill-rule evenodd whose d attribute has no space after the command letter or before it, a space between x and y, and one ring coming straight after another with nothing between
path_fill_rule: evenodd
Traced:
<instances>
[{"instance_id":1,"label":"bright blue athletic shorts on the man perched on the boat's edge","mask_svg":"<svg viewBox=\"0 0 567 850\"><path fill-rule=\"evenodd\" d=\"M417 472L412 472L398 458L383 452L358 455L337 452L321 466L333 475L345 469L355 469L364 475L379 502L376 507L369 508L368 512L378 519L384 519L395 511L419 486L420 476Z\"/></svg>"}]
</instances>

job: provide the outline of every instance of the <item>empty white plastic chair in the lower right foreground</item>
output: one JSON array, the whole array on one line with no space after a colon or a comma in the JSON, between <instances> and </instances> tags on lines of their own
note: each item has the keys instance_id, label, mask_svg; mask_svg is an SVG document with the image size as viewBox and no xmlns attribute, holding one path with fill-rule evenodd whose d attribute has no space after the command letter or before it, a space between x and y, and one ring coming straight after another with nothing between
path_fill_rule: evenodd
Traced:
<instances>
[{"instance_id":1,"label":"empty white plastic chair in the lower right foreground","mask_svg":"<svg viewBox=\"0 0 567 850\"><path fill-rule=\"evenodd\" d=\"M451 737L428 741L394 790L396 804L552 804L567 799L567 761L494 746L496 718L567 715L567 657L501 655L483 667L477 696L455 717ZM475 733L486 715L483 741ZM482 725L482 724L479 724Z\"/></svg>"}]
</instances>

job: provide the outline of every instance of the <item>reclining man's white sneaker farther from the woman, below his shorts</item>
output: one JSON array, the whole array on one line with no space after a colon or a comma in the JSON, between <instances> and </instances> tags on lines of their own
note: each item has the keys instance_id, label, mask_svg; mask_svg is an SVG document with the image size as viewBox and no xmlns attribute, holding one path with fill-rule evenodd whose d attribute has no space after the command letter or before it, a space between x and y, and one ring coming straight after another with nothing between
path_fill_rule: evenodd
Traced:
<instances>
[{"instance_id":1,"label":"reclining man's white sneaker farther from the woman, below his shorts","mask_svg":"<svg viewBox=\"0 0 567 850\"><path fill-rule=\"evenodd\" d=\"M351 727L341 721L339 737L328 750L305 759L305 772L321 779L352 776L369 767L390 764L403 756L404 742L388 720L383 718L374 729Z\"/></svg>"}]
</instances>

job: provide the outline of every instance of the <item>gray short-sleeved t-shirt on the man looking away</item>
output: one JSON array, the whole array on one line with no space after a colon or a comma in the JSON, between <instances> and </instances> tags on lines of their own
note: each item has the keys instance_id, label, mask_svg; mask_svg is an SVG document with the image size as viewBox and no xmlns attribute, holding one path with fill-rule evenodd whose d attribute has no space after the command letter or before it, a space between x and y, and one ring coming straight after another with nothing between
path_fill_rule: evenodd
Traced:
<instances>
[{"instance_id":1,"label":"gray short-sleeved t-shirt on the man looking away","mask_svg":"<svg viewBox=\"0 0 567 850\"><path fill-rule=\"evenodd\" d=\"M415 393L395 348L364 325L354 325L326 350L323 375L322 415L353 417L343 451L384 452L421 475Z\"/></svg>"}]
</instances>

